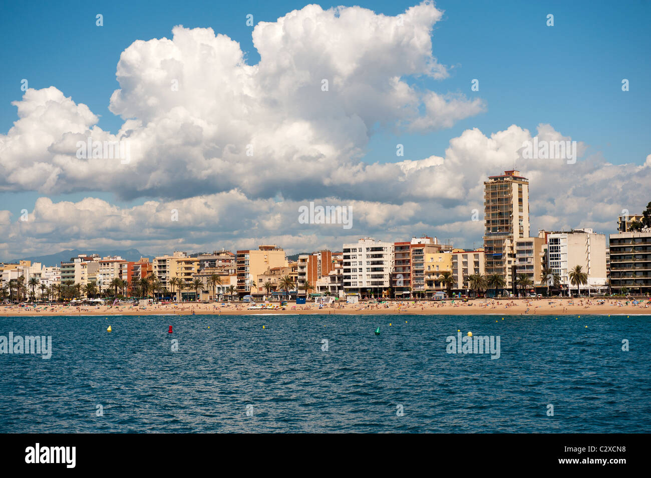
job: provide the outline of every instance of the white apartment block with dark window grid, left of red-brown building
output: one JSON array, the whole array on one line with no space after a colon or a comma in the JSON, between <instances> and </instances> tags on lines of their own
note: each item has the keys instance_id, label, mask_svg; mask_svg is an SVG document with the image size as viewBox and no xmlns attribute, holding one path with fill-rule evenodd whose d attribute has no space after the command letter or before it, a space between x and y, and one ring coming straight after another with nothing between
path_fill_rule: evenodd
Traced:
<instances>
[{"instance_id":1,"label":"white apartment block with dark window grid, left of red-brown building","mask_svg":"<svg viewBox=\"0 0 651 478\"><path fill-rule=\"evenodd\" d=\"M344 244L344 291L363 297L381 297L391 287L394 245L364 237Z\"/></svg>"}]
</instances>

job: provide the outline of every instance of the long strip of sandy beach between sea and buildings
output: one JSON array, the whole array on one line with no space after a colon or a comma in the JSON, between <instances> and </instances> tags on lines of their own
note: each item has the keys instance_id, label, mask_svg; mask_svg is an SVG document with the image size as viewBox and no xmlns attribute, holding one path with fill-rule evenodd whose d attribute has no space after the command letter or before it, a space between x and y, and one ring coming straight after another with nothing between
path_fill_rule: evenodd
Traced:
<instances>
[{"instance_id":1,"label":"long strip of sandy beach between sea and buildings","mask_svg":"<svg viewBox=\"0 0 651 478\"><path fill-rule=\"evenodd\" d=\"M651 315L650 299L475 299L467 300L405 300L403 302L359 302L357 304L336 304L319 308L316 304L289 302L279 310L248 310L251 304L242 302L211 302L195 304L193 302L150 304L134 306L118 304L116 306L76 306L57 304L46 306L0 306L0 316L33 315L249 315L249 314L505 314L505 315L572 315L577 314L637 314Z\"/></svg>"}]
</instances>

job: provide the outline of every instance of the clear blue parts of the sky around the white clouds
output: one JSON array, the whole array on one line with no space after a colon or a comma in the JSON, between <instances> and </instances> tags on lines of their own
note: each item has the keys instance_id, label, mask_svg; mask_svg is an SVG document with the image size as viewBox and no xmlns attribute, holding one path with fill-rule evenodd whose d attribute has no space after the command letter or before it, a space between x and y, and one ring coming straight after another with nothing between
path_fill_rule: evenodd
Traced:
<instances>
[{"instance_id":1,"label":"clear blue parts of the sky around the white clouds","mask_svg":"<svg viewBox=\"0 0 651 478\"><path fill-rule=\"evenodd\" d=\"M344 3L395 16L416 2L372 1ZM101 115L98 126L116 133L122 119L109 109L119 88L115 71L120 53L135 40L171 38L174 25L212 27L240 42L249 64L259 60L251 40L255 23L275 21L305 2L218 3L215 1L68 1L4 3L0 50L0 133L17 119L11 101L20 100L21 79L31 88L56 86L76 103ZM320 3L329 8L339 3ZM438 92L462 92L486 101L487 110L464 118L453 127L427 134L379 131L367 146L363 161L395 161L395 145L405 145L406 159L445 155L449 140L477 127L485 135L512 124L533 133L540 123L562 135L585 142L588 154L615 164L644 163L651 152L651 2L578 1L439 1L443 20L436 23L433 53L450 67L450 77L436 81L410 79L414 85ZM96 27L95 15L104 26ZM546 16L553 14L553 27ZM470 90L478 79L480 90ZM630 91L622 92L622 79ZM508 168L510 165L504 165ZM42 194L32 191L0 193L1 209L31 209ZM54 194L58 200L79 200L89 193ZM142 204L146 198L124 201L98 192L118 206Z\"/></svg>"}]
</instances>

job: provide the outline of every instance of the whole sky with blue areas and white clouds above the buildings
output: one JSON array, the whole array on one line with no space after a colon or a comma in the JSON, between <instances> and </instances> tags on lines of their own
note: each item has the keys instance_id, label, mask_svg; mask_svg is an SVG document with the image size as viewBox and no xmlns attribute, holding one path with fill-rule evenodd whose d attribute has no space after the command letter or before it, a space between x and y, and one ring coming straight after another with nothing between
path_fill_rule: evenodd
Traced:
<instances>
[{"instance_id":1,"label":"whole sky with blue areas and white clouds above the buildings","mask_svg":"<svg viewBox=\"0 0 651 478\"><path fill-rule=\"evenodd\" d=\"M612 233L651 201L650 13L646 0L5 3L0 259L425 234L470 248L483 181L512 168L531 183L532 235ZM128 161L77 157L89 137L128 144ZM578 159L522 157L533 137L576 141ZM311 202L347 207L350 227L299 220Z\"/></svg>"}]
</instances>

